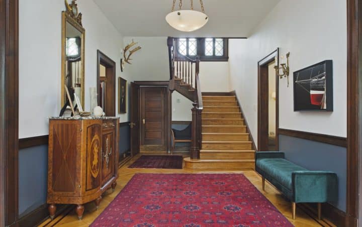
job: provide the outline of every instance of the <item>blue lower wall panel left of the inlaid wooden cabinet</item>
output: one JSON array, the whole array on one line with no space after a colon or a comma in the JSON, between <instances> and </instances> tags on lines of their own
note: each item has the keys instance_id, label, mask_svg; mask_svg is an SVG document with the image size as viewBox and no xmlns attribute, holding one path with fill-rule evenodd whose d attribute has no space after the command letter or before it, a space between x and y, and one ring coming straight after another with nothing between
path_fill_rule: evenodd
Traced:
<instances>
[{"instance_id":1,"label":"blue lower wall panel left of the inlaid wooden cabinet","mask_svg":"<svg viewBox=\"0 0 362 227\"><path fill-rule=\"evenodd\" d=\"M19 150L19 216L46 203L48 145Z\"/></svg>"}]
</instances>

